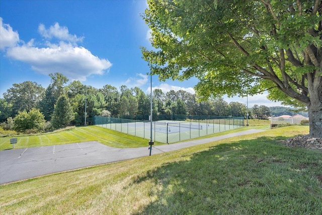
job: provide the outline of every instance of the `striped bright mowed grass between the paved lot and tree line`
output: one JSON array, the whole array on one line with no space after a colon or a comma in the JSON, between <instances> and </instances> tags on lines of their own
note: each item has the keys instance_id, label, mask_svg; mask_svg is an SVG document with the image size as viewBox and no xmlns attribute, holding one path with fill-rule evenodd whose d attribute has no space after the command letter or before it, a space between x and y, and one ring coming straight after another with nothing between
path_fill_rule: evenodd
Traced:
<instances>
[{"instance_id":1,"label":"striped bright mowed grass between the paved lot and tree line","mask_svg":"<svg viewBox=\"0 0 322 215\"><path fill-rule=\"evenodd\" d=\"M146 147L148 140L99 126L75 127L54 133L15 136L18 138L15 149L70 144L83 141L98 141L117 148ZM12 149L10 138L0 137L0 150Z\"/></svg>"}]
</instances>

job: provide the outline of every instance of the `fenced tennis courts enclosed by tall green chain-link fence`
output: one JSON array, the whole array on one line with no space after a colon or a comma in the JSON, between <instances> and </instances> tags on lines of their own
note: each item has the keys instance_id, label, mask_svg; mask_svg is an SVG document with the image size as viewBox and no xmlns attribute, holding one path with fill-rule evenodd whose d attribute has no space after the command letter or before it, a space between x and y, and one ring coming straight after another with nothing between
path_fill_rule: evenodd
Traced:
<instances>
[{"instance_id":1,"label":"fenced tennis courts enclosed by tall green chain-link fence","mask_svg":"<svg viewBox=\"0 0 322 215\"><path fill-rule=\"evenodd\" d=\"M123 133L150 139L151 122L95 116L93 124ZM201 119L190 121L159 120L152 122L152 139L163 143L206 136L244 126L244 117Z\"/></svg>"}]
</instances>

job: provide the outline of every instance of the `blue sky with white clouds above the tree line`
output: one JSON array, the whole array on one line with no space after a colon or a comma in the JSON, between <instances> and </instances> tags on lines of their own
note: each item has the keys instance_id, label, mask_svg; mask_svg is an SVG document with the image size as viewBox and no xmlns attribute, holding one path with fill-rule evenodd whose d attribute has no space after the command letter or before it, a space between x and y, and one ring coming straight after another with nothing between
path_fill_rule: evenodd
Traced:
<instances>
[{"instance_id":1,"label":"blue sky with white clouds above the tree line","mask_svg":"<svg viewBox=\"0 0 322 215\"><path fill-rule=\"evenodd\" d=\"M32 81L46 88L50 73L102 88L139 87L149 93L149 67L140 46L151 49L149 29L140 17L146 1L0 1L0 96L15 83ZM197 79L159 82L164 93L194 93ZM224 98L245 103L246 98ZM254 104L280 106L264 95Z\"/></svg>"}]
</instances>

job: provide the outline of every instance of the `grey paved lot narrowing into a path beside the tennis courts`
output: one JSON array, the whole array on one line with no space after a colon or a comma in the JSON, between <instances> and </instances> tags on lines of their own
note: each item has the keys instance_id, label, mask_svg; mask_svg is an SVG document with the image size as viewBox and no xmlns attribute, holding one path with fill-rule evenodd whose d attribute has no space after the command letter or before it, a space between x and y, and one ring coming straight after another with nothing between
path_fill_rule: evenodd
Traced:
<instances>
[{"instance_id":1,"label":"grey paved lot narrowing into a path beside the tennis courts","mask_svg":"<svg viewBox=\"0 0 322 215\"><path fill-rule=\"evenodd\" d=\"M178 144L154 145L152 155L261 131L263 130L250 129L222 136L179 142ZM4 150L0 151L0 184L148 155L148 146L120 149L108 147L96 141Z\"/></svg>"}]
</instances>

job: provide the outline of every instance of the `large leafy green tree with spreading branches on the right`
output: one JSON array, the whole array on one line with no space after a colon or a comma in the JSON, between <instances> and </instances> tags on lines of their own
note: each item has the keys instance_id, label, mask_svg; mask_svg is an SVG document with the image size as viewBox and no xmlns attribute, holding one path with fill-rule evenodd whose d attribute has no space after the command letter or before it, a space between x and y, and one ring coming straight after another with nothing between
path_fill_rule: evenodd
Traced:
<instances>
[{"instance_id":1,"label":"large leafy green tree with spreading branches on the right","mask_svg":"<svg viewBox=\"0 0 322 215\"><path fill-rule=\"evenodd\" d=\"M256 94L308 108L322 137L322 1L150 0L143 16L159 79L199 79L200 98Z\"/></svg>"}]
</instances>

